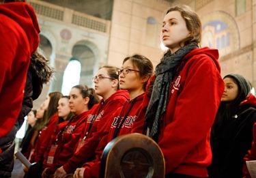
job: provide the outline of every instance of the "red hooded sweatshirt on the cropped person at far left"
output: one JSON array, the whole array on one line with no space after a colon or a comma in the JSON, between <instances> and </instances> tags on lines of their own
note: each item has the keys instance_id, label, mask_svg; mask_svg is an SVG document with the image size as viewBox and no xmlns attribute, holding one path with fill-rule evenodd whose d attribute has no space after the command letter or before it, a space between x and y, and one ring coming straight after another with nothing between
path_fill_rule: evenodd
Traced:
<instances>
[{"instance_id":1,"label":"red hooded sweatshirt on the cropped person at far left","mask_svg":"<svg viewBox=\"0 0 256 178\"><path fill-rule=\"evenodd\" d=\"M28 3L0 4L0 138L12 129L23 102L31 54L40 29Z\"/></svg>"}]
</instances>

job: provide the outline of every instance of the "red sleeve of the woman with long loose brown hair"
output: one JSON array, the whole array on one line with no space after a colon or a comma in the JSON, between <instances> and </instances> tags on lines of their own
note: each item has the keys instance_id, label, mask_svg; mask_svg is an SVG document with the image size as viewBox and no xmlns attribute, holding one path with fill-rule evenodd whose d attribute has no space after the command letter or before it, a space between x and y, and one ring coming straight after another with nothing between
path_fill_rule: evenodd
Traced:
<instances>
[{"instance_id":1,"label":"red sleeve of the woman with long loose brown hair","mask_svg":"<svg viewBox=\"0 0 256 178\"><path fill-rule=\"evenodd\" d=\"M51 136L54 133L55 128L57 127L58 118L58 114L53 115L50 122L48 123L47 128L42 130L40 135L40 145L39 147L37 147L35 162L44 161L44 152L49 147L49 144L51 144Z\"/></svg>"}]
</instances>

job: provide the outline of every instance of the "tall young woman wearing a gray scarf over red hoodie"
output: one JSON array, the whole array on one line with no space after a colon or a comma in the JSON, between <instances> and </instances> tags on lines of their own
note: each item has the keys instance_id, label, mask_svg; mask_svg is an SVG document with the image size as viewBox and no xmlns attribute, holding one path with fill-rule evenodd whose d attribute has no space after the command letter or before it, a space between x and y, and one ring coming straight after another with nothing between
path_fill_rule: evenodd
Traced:
<instances>
[{"instance_id":1,"label":"tall young woman wearing a gray scarf over red hoodie","mask_svg":"<svg viewBox=\"0 0 256 178\"><path fill-rule=\"evenodd\" d=\"M200 47L201 29L187 5L173 5L162 20L160 38L168 50L151 80L145 123L165 156L166 177L208 177L210 130L224 83L218 50Z\"/></svg>"}]
</instances>

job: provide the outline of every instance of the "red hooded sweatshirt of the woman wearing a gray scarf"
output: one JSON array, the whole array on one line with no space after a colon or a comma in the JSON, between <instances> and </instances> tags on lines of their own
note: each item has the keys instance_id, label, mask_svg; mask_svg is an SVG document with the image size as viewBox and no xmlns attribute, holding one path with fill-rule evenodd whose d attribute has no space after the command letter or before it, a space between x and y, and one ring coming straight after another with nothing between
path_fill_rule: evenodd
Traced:
<instances>
[{"instance_id":1,"label":"red hooded sweatshirt of the woman wearing a gray scarf","mask_svg":"<svg viewBox=\"0 0 256 178\"><path fill-rule=\"evenodd\" d=\"M177 68L158 136L165 173L208 177L210 129L224 91L217 59L218 50L197 48Z\"/></svg>"}]
</instances>

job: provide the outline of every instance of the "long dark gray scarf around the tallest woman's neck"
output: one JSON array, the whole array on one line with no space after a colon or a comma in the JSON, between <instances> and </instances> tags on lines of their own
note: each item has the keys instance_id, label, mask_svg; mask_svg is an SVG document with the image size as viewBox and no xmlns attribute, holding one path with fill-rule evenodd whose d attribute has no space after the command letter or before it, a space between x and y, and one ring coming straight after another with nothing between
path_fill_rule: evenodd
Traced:
<instances>
[{"instance_id":1,"label":"long dark gray scarf around the tallest woman's neck","mask_svg":"<svg viewBox=\"0 0 256 178\"><path fill-rule=\"evenodd\" d=\"M173 78L175 78L177 66L182 62L182 58L195 48L198 48L198 46L193 42L183 46L173 54L169 51L156 66L156 80L154 81L150 103L147 106L145 115L149 136L156 141L158 141L160 130L160 117L167 109L169 89Z\"/></svg>"}]
</instances>

